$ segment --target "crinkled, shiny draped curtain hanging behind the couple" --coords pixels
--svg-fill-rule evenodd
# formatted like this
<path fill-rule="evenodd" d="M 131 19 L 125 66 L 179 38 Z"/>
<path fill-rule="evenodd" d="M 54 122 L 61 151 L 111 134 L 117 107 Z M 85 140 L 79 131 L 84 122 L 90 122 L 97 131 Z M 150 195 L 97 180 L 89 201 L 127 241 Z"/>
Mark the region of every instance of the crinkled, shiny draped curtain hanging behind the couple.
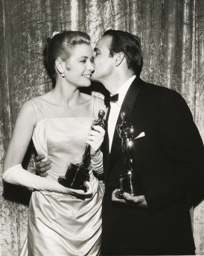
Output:
<path fill-rule="evenodd" d="M 178 91 L 204 139 L 204 1 L 0 0 L 0 4 L 1 171 L 22 103 L 52 88 L 42 57 L 47 37 L 65 29 L 87 32 L 93 46 L 107 29 L 138 35 L 144 55 L 142 79 Z M 34 171 L 32 145 L 23 164 Z M 204 254 L 203 194 L 198 188 L 191 197 L 197 255 Z M 5 184 L 3 192 L 1 183 L 2 256 L 17 255 L 25 240 L 29 198 L 28 190 L 14 185 Z"/>

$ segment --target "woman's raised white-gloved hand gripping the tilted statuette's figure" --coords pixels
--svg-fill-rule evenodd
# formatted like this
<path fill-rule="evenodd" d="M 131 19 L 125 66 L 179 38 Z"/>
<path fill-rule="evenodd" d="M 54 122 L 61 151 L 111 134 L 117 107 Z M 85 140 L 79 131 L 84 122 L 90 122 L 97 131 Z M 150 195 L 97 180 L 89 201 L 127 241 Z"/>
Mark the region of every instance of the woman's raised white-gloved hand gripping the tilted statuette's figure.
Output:
<path fill-rule="evenodd" d="M 105 135 L 105 130 L 99 125 L 94 126 L 94 129 L 96 131 L 90 130 L 88 132 L 88 137 L 85 140 L 85 142 L 91 146 L 91 156 L 93 156 L 98 151 Z"/>

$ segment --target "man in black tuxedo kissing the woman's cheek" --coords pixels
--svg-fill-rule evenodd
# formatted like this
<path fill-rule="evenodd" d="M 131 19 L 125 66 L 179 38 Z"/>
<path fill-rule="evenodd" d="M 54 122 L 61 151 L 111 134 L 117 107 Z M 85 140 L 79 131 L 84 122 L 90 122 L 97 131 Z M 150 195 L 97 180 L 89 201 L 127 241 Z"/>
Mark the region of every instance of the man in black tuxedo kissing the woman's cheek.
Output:
<path fill-rule="evenodd" d="M 102 145 L 102 255 L 193 255 L 188 195 L 203 181 L 204 148 L 191 112 L 177 92 L 139 78 L 142 50 L 135 35 L 108 30 L 94 53 L 93 80 L 119 94 L 110 102 Z M 124 199 L 115 196 L 126 170 L 116 129 L 121 112 L 135 129 L 133 164 L 146 189 Z"/>

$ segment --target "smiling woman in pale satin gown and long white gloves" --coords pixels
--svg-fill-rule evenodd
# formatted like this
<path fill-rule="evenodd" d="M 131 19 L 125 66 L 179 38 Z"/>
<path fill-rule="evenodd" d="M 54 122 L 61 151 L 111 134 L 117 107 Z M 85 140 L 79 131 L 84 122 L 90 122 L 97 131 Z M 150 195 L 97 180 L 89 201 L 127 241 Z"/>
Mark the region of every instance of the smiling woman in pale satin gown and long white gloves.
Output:
<path fill-rule="evenodd" d="M 70 162 L 80 163 L 85 142 L 91 146 L 91 162 L 101 172 L 100 147 L 104 130 L 89 131 L 101 99 L 79 92 L 91 85 L 94 71 L 88 34 L 63 31 L 47 45 L 47 67 L 56 80 L 53 90 L 26 101 L 18 114 L 4 160 L 4 181 L 33 189 L 28 213 L 27 245 L 21 255 L 99 255 L 102 190 L 89 166 L 89 189 L 60 185 Z M 99 105 L 99 108 L 98 108 Z M 87 136 L 88 134 L 88 136 Z M 51 160 L 46 177 L 21 166 L 30 139 L 38 154 Z M 28 250 L 28 252 L 26 252 Z"/>

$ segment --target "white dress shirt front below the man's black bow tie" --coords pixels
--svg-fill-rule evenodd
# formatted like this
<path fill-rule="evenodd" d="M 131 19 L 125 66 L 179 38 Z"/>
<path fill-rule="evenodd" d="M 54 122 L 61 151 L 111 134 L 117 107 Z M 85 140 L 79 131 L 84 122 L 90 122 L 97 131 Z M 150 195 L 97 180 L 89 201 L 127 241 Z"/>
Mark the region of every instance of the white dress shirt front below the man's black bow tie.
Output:
<path fill-rule="evenodd" d="M 118 93 L 118 101 L 117 102 L 110 102 L 111 109 L 110 109 L 110 114 L 108 117 L 108 138 L 109 138 L 109 152 L 111 152 L 111 146 L 113 142 L 113 135 L 114 131 L 116 129 L 116 123 L 118 120 L 118 115 L 120 114 L 120 108 L 122 106 L 122 102 L 124 101 L 125 95 L 132 84 L 133 80 L 136 78 L 136 76 L 132 76 L 128 81 L 126 81 L 116 92 Z M 113 96 L 113 95 L 111 95 Z M 121 120 L 122 122 L 122 120 Z"/>

